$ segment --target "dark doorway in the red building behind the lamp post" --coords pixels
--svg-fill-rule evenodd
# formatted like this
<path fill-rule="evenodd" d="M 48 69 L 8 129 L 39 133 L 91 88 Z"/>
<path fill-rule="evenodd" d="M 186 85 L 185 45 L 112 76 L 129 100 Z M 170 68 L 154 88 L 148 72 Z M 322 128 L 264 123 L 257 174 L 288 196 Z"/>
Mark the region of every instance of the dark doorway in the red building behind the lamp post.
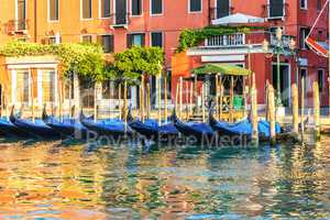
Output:
<path fill-rule="evenodd" d="M 290 76 L 289 76 L 289 65 L 282 64 L 279 67 L 279 84 L 280 84 L 280 98 L 282 103 L 285 107 L 290 105 Z M 277 90 L 277 65 L 273 64 L 273 87 Z M 276 91 L 277 92 L 277 91 Z"/>

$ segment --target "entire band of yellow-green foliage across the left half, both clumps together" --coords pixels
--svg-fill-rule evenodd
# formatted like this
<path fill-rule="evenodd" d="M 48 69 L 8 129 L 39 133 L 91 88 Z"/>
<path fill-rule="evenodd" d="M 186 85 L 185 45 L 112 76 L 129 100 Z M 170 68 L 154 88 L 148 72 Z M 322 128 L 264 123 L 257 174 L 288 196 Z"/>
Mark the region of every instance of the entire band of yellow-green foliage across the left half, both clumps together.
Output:
<path fill-rule="evenodd" d="M 157 75 L 163 67 L 164 52 L 160 47 L 134 46 L 114 54 L 114 62 L 106 64 L 101 46 L 96 44 L 53 44 L 10 42 L 0 47 L 4 56 L 54 55 L 66 77 L 77 73 L 84 80 L 128 80 L 134 84 L 142 74 Z"/>

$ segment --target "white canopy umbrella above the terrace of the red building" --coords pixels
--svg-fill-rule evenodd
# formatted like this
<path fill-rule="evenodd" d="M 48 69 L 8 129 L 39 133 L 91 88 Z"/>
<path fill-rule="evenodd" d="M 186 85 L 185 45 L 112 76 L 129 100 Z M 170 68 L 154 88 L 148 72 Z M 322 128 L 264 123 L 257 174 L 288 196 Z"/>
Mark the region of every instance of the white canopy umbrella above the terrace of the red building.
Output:
<path fill-rule="evenodd" d="M 212 20 L 213 25 L 229 25 L 229 24 L 246 24 L 246 23 L 263 23 L 265 19 L 252 16 L 243 13 L 235 13 L 221 19 Z"/>

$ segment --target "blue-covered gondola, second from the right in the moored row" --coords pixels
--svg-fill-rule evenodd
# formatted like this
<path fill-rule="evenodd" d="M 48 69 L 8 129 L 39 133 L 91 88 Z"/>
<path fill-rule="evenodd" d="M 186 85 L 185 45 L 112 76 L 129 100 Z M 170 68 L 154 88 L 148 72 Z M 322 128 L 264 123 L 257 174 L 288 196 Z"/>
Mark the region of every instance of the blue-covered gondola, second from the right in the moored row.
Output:
<path fill-rule="evenodd" d="M 199 122 L 184 122 L 176 116 L 176 111 L 173 111 L 170 120 L 175 128 L 187 138 L 187 142 L 191 144 L 204 144 L 216 141 L 216 135 L 211 127 L 206 123 Z"/>

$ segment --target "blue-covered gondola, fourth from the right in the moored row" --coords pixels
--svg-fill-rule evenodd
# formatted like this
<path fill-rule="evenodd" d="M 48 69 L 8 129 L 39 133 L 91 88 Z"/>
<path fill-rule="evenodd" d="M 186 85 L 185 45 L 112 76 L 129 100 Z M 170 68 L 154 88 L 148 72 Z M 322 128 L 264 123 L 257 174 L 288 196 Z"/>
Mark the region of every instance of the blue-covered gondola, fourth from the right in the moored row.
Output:
<path fill-rule="evenodd" d="M 119 138 L 124 135 L 131 136 L 133 133 L 130 127 L 124 124 L 124 122 L 121 120 L 111 119 L 111 120 L 95 122 L 92 119 L 88 119 L 84 114 L 82 110 L 80 111 L 79 119 L 80 119 L 80 123 L 84 127 L 86 127 L 90 131 L 94 131 L 99 136 L 101 135 L 113 136 L 113 138 Z"/>

